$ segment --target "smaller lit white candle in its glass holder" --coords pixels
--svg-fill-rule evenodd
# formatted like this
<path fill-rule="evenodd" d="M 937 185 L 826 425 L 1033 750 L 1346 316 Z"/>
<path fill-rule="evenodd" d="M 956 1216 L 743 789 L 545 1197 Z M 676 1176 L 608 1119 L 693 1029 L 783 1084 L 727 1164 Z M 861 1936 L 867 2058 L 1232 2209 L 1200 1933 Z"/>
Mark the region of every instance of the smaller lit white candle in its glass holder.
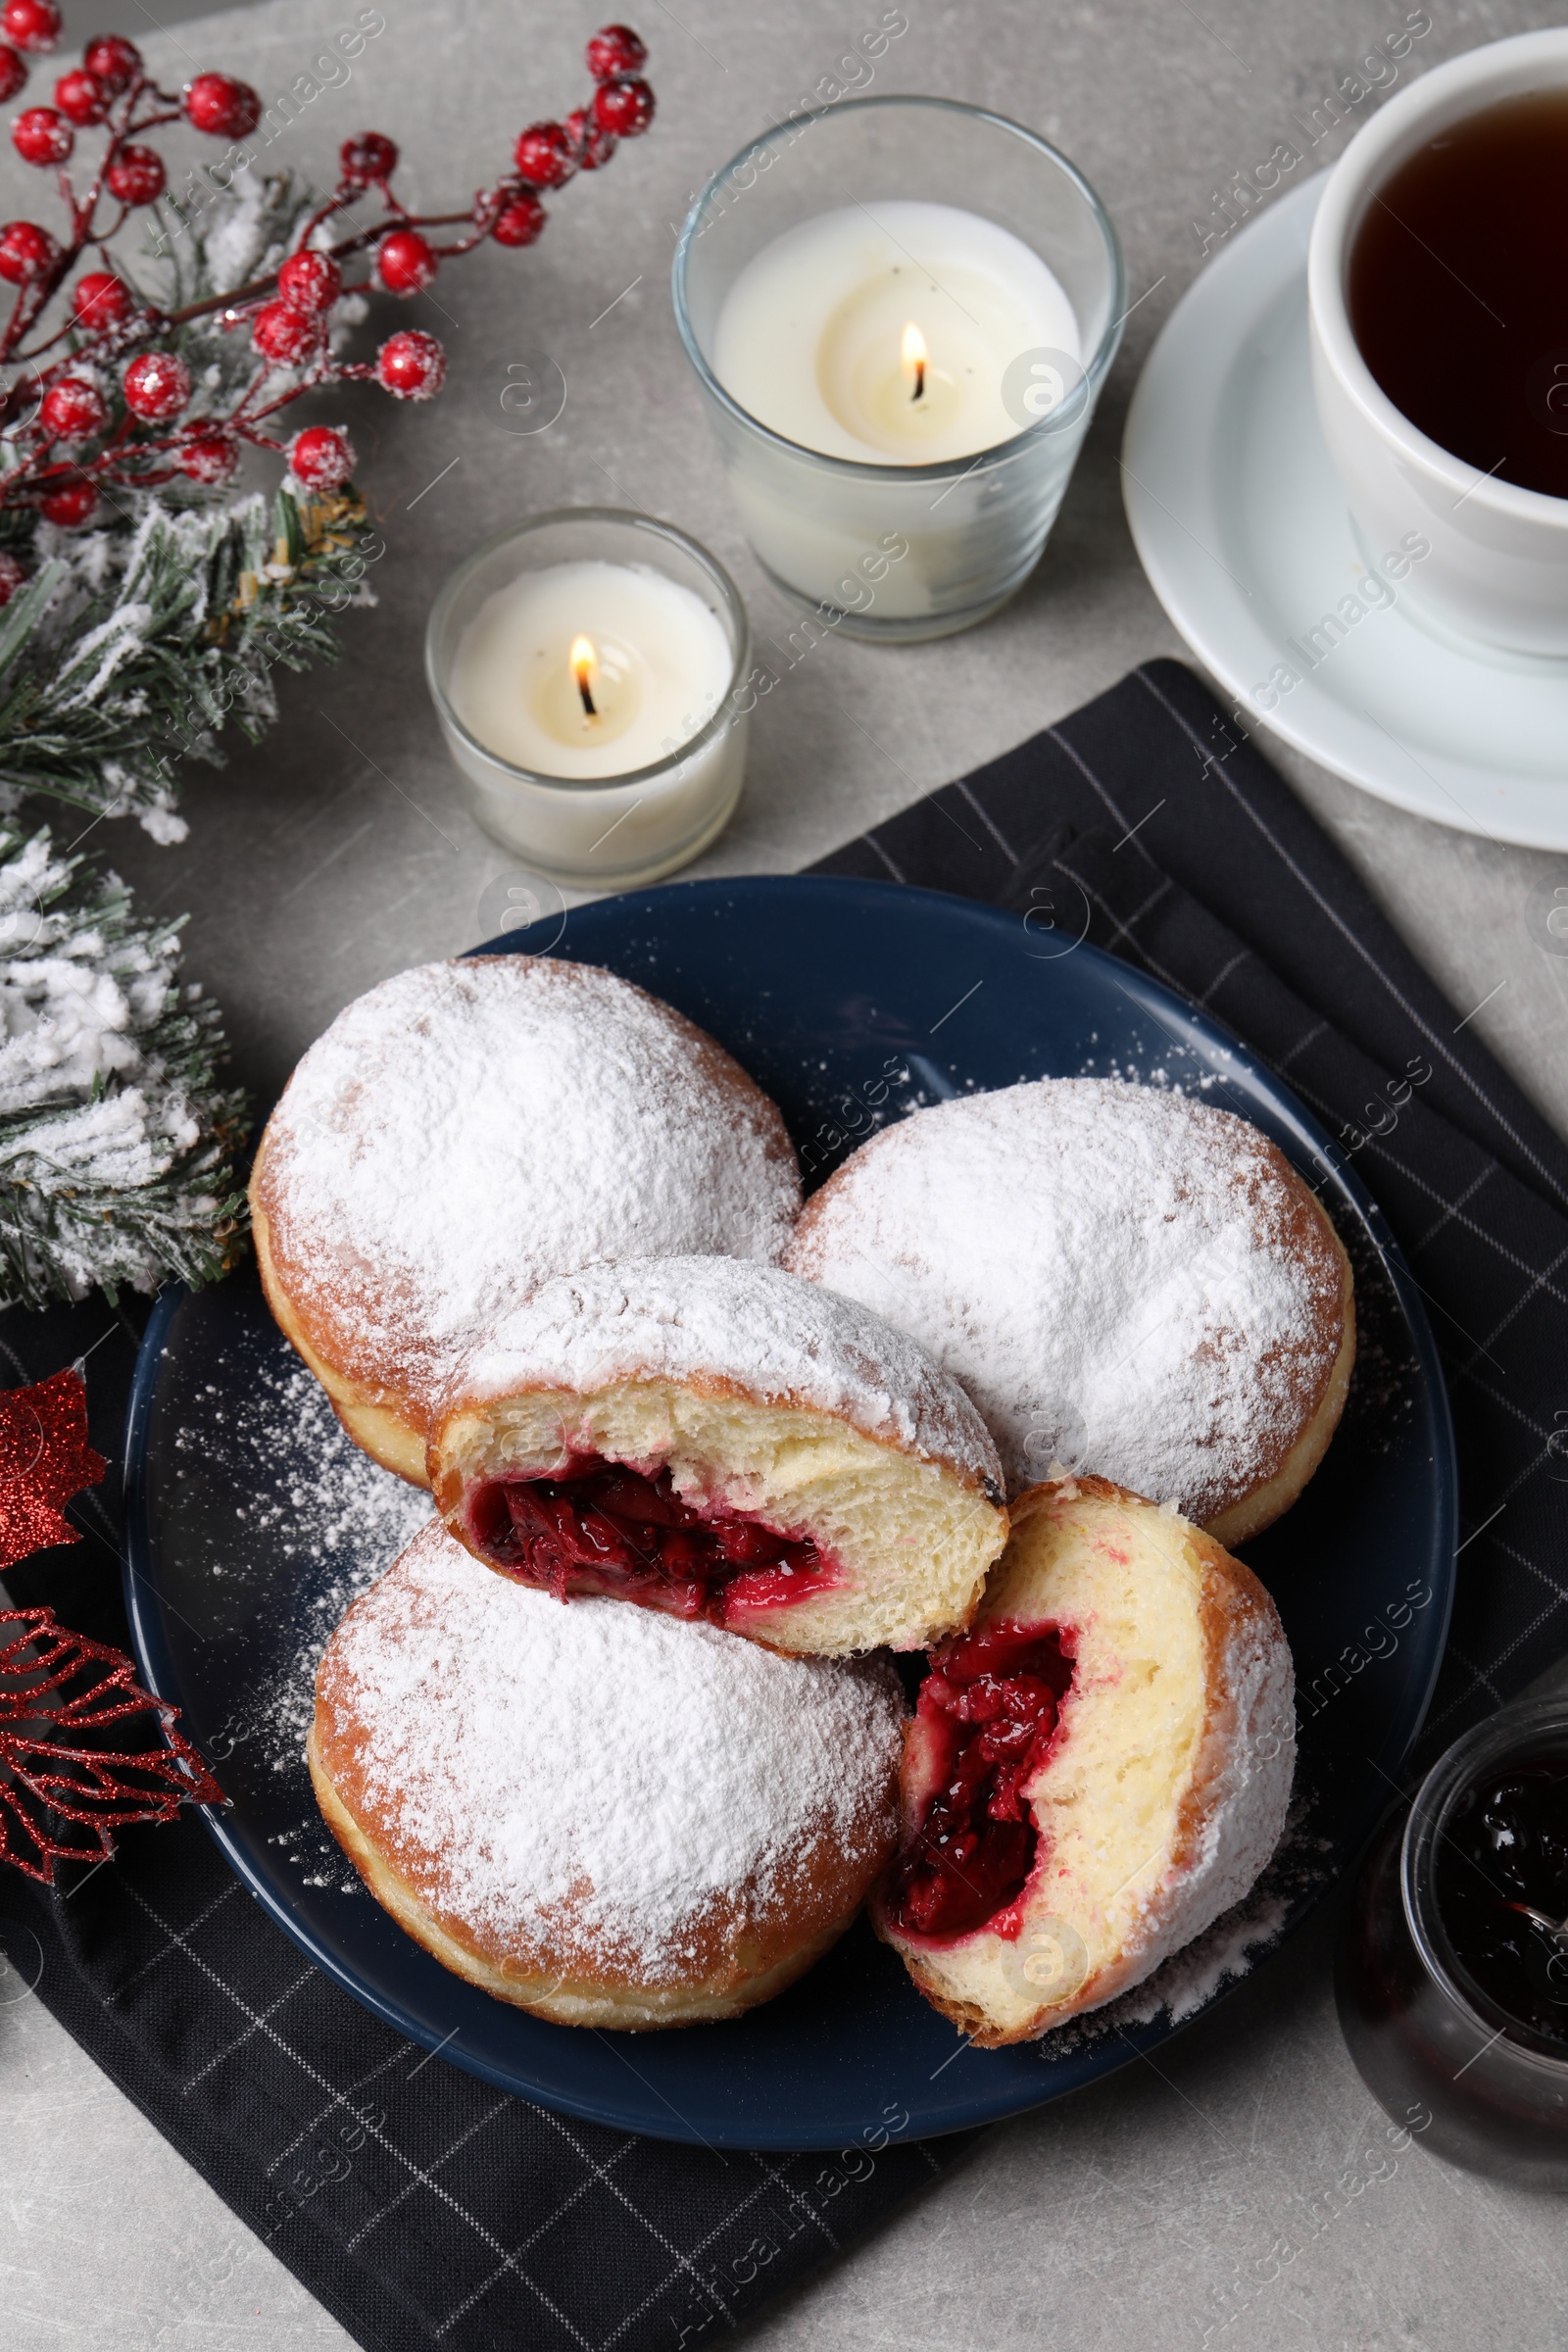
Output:
<path fill-rule="evenodd" d="M 745 781 L 745 607 L 668 522 L 559 508 L 442 586 L 425 677 L 470 814 L 571 889 L 686 866 Z"/>

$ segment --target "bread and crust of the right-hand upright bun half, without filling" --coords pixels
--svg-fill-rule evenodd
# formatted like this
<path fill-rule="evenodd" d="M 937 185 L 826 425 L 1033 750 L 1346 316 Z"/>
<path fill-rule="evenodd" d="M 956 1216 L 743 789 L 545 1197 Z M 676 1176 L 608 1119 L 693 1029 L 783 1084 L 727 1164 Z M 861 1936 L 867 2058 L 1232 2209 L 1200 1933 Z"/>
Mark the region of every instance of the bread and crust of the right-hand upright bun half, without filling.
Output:
<path fill-rule="evenodd" d="M 917 1985 L 983 2046 L 1114 1999 L 1237 1903 L 1284 1828 L 1295 1755 L 1262 1585 L 1105 1479 L 1018 1498 L 990 1621 L 1056 1623 L 1077 1644 L 1058 1743 L 1025 1790 L 1039 1849 L 1020 1931 L 936 1945 L 879 1910 Z"/>

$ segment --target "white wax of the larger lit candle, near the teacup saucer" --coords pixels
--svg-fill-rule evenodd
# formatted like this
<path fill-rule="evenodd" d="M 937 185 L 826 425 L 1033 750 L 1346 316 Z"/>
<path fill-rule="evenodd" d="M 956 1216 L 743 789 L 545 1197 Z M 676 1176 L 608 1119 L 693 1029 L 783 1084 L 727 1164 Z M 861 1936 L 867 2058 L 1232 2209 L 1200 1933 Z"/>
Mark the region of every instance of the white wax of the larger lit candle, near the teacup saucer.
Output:
<path fill-rule="evenodd" d="M 752 254 L 712 374 L 752 421 L 748 440 L 722 416 L 719 437 L 757 555 L 863 635 L 966 626 L 1018 586 L 1091 412 L 1056 270 L 999 221 L 922 200 L 820 212 Z M 1013 473 L 1009 445 L 1053 414 Z"/>

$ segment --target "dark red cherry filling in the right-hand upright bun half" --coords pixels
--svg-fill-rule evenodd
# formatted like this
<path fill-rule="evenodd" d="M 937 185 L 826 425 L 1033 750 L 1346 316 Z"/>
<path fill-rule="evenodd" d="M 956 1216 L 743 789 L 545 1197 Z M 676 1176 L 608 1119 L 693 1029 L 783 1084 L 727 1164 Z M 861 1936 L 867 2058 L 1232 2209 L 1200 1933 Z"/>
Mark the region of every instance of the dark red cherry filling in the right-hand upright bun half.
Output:
<path fill-rule="evenodd" d="M 1056 1740 L 1072 1639 L 999 1623 L 931 1653 L 905 1764 L 919 1809 L 889 1889 L 905 1933 L 969 1936 L 1023 1893 L 1039 1842 L 1023 1790 Z"/>

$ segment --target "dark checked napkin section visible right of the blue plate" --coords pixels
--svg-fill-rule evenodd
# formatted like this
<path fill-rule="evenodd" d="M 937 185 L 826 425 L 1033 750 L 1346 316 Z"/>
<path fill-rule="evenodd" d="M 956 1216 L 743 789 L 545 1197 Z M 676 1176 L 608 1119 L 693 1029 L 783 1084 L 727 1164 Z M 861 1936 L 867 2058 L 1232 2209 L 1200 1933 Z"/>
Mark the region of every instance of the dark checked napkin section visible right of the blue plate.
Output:
<path fill-rule="evenodd" d="M 1086 936 L 1279 1070 L 1387 1214 L 1448 1376 L 1460 1583 L 1420 1752 L 1568 1651 L 1568 1145 L 1192 670 L 1133 670 L 816 873 Z"/>

